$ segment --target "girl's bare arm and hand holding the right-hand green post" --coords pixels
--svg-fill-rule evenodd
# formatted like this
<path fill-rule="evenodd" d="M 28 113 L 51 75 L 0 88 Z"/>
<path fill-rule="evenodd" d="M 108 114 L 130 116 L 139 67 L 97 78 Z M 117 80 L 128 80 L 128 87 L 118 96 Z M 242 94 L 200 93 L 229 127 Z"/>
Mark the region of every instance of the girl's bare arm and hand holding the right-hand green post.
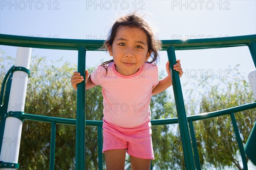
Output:
<path fill-rule="evenodd" d="M 181 75 L 183 74 L 183 71 L 182 71 L 182 68 L 180 65 L 180 60 L 177 60 L 176 62 L 177 63 L 174 65 L 173 69 L 176 70 L 177 72 L 179 72 L 179 75 L 181 77 Z M 169 64 L 170 64 L 169 61 L 167 61 L 166 71 L 167 71 L 168 76 L 166 78 L 160 80 L 159 83 L 157 84 L 157 86 L 152 87 L 152 95 L 157 95 L 158 93 L 163 92 L 169 86 L 172 86 L 172 76 L 171 76 Z"/>

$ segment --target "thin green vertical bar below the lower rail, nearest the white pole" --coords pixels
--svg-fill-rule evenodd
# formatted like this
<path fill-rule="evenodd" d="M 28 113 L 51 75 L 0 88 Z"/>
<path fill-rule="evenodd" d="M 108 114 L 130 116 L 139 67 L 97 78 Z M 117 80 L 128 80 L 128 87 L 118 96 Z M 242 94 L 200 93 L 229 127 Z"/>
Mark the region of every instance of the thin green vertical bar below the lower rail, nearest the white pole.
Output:
<path fill-rule="evenodd" d="M 56 135 L 56 124 L 52 122 L 51 127 L 51 147 L 50 147 L 50 170 L 54 170 L 55 163 L 55 135 Z"/>

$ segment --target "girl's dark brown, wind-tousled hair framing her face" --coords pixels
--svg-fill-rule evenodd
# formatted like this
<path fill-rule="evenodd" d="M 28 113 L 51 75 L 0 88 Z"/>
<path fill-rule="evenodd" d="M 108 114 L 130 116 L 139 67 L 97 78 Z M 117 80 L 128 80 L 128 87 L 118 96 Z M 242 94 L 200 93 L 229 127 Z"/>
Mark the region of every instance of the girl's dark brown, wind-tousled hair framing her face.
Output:
<path fill-rule="evenodd" d="M 149 61 L 148 63 L 153 63 L 154 61 L 158 60 L 159 55 L 158 55 L 157 51 L 161 49 L 161 45 L 162 45 L 161 41 L 157 40 L 151 27 L 143 19 L 143 16 L 141 16 L 140 14 L 138 14 L 136 12 L 132 12 L 131 14 L 122 16 L 115 21 L 115 23 L 113 24 L 113 26 L 108 34 L 108 39 L 105 40 L 105 42 L 103 44 L 104 49 L 108 49 L 109 47 L 112 46 L 119 26 L 128 26 L 131 28 L 135 27 L 135 28 L 142 29 L 145 32 L 145 34 L 147 35 L 148 52 L 150 53 L 150 56 L 152 58 L 152 60 Z M 105 67 L 106 71 L 108 71 L 106 64 L 111 63 L 112 61 L 113 60 L 105 61 L 105 62 L 101 63 L 101 65 Z"/>

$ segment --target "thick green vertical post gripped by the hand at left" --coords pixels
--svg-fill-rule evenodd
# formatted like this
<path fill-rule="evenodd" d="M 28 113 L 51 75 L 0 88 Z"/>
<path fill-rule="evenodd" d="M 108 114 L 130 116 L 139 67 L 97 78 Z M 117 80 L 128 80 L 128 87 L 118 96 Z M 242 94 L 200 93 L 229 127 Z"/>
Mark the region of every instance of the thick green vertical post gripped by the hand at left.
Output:
<path fill-rule="evenodd" d="M 85 78 L 85 48 L 78 49 L 78 72 Z M 85 170 L 85 81 L 77 85 L 76 170 Z"/>

